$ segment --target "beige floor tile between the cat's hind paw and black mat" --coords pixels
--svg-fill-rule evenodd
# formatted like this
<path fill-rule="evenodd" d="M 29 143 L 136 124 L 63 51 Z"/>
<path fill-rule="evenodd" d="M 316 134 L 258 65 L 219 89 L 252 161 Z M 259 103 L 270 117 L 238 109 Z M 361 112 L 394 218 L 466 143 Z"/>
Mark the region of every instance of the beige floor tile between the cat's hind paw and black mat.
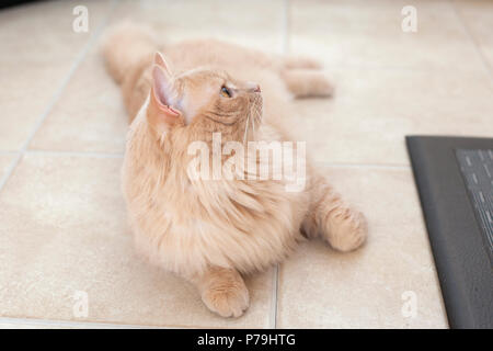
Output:
<path fill-rule="evenodd" d="M 344 68 L 330 76 L 335 97 L 298 100 L 288 117 L 317 161 L 408 165 L 408 134 L 493 135 L 492 82 L 482 72 Z"/>

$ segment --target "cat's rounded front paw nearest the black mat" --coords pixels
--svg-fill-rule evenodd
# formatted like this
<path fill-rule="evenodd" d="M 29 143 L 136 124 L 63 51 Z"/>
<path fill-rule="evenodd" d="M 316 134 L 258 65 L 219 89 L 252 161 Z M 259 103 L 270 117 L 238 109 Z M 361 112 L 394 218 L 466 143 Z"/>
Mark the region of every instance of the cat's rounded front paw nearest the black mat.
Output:
<path fill-rule="evenodd" d="M 326 239 L 339 251 L 353 251 L 360 247 L 368 235 L 365 216 L 353 208 L 337 208 L 328 217 Z"/>

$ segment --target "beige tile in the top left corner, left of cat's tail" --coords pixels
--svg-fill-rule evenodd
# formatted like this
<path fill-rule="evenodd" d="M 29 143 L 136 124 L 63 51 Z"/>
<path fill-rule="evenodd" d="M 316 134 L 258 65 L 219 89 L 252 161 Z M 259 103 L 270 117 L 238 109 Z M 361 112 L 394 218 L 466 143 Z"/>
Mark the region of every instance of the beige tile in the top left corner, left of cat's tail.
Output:
<path fill-rule="evenodd" d="M 73 7 L 87 5 L 89 32 L 72 30 Z M 49 106 L 108 1 L 56 1 L 0 13 L 0 150 L 16 150 Z"/>

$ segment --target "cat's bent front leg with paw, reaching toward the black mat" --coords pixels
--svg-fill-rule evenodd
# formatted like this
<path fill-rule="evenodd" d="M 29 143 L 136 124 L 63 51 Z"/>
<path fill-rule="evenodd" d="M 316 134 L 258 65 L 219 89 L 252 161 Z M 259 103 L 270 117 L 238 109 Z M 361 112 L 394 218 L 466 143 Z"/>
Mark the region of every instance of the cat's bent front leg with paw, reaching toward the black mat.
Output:
<path fill-rule="evenodd" d="M 360 247 L 367 237 L 364 215 L 345 203 L 323 178 L 311 185 L 312 203 L 302 223 L 308 237 L 321 236 L 339 251 Z"/>

